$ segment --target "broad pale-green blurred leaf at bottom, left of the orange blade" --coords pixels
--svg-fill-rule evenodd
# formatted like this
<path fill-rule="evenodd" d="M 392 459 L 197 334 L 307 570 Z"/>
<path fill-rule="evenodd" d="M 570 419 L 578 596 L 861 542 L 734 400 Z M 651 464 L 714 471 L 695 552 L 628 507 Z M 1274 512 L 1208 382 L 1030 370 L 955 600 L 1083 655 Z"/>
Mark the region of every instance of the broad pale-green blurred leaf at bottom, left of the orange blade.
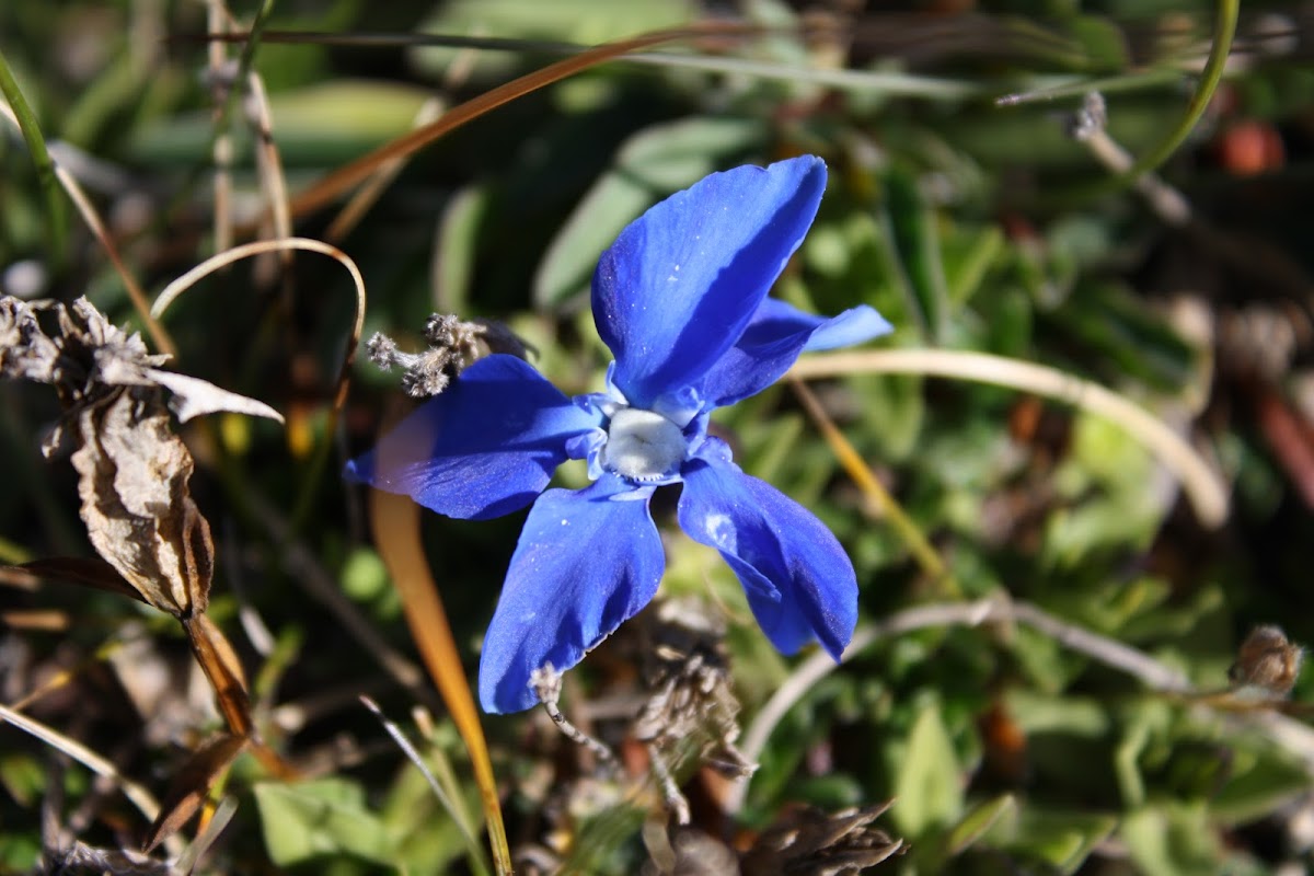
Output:
<path fill-rule="evenodd" d="M 255 785 L 269 859 L 290 867 L 314 858 L 351 855 L 380 864 L 397 859 L 397 843 L 365 808 L 360 785 L 344 779 Z"/>

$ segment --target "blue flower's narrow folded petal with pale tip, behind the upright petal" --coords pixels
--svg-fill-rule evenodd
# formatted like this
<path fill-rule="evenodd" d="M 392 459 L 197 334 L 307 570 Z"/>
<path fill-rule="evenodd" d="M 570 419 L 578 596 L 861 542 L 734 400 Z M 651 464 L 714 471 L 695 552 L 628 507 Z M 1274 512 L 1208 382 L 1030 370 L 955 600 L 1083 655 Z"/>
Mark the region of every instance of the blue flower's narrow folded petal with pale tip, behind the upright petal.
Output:
<path fill-rule="evenodd" d="M 861 344 L 890 331 L 886 318 L 866 305 L 827 319 L 767 298 L 738 343 L 708 372 L 703 393 L 712 407 L 733 405 L 779 380 L 804 351 Z"/>

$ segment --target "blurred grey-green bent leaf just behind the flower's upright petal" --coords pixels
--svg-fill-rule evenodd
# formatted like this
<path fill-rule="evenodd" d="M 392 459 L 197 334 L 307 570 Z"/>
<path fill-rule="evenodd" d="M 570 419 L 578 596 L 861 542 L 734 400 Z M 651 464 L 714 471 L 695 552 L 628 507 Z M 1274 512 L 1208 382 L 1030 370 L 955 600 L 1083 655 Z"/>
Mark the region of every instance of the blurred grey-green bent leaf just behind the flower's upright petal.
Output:
<path fill-rule="evenodd" d="M 586 292 L 598 256 L 622 229 L 763 135 L 759 120 L 694 117 L 631 137 L 553 239 L 533 278 L 533 302 L 551 309 Z"/>

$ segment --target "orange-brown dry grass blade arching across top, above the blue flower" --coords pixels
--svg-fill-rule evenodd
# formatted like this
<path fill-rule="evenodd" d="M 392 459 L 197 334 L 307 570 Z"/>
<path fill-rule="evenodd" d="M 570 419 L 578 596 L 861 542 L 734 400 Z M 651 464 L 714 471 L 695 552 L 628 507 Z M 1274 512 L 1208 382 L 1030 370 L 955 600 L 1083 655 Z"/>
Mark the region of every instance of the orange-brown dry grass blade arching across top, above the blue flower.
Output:
<path fill-rule="evenodd" d="M 318 210 L 347 189 L 364 181 L 380 167 L 385 167 L 390 162 L 406 158 L 407 155 L 424 148 L 438 138 L 444 134 L 449 134 L 461 125 L 478 118 L 484 113 L 494 110 L 498 106 L 509 104 L 518 97 L 523 97 L 530 92 L 537 91 L 539 88 L 566 79 L 568 76 L 583 72 L 590 67 L 597 67 L 600 63 L 640 49 L 646 49 L 664 42 L 673 42 L 675 39 L 745 35 L 758 33 L 758 30 L 759 29 L 757 26 L 749 25 L 706 24 L 691 28 L 677 28 L 673 30 L 654 30 L 653 33 L 641 34 L 629 39 L 622 39 L 619 42 L 608 42 L 595 49 L 581 51 L 578 55 L 572 55 L 570 58 L 548 64 L 543 70 L 536 70 L 532 74 L 514 79 L 505 85 L 498 85 L 497 88 L 487 91 L 473 100 L 468 100 L 459 106 L 453 106 L 438 121 L 415 129 L 409 134 L 403 134 L 393 142 L 380 146 L 373 152 L 356 159 L 351 164 L 338 168 L 325 179 L 319 180 L 319 183 L 313 185 L 309 190 L 294 197 L 292 200 L 292 214 L 302 215 L 305 213 Z"/>

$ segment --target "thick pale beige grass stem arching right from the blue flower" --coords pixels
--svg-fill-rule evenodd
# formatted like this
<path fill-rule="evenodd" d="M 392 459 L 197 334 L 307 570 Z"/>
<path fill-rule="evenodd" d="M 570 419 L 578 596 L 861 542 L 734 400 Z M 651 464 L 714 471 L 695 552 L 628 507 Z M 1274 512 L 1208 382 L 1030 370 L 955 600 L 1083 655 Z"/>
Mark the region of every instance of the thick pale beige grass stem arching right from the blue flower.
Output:
<path fill-rule="evenodd" d="M 1099 383 L 1016 359 L 950 349 L 878 349 L 805 356 L 790 369 L 798 380 L 844 374 L 922 374 L 1008 386 L 1072 405 L 1121 426 L 1177 477 L 1200 523 L 1227 519 L 1227 487 L 1209 464 L 1163 420 Z"/>

